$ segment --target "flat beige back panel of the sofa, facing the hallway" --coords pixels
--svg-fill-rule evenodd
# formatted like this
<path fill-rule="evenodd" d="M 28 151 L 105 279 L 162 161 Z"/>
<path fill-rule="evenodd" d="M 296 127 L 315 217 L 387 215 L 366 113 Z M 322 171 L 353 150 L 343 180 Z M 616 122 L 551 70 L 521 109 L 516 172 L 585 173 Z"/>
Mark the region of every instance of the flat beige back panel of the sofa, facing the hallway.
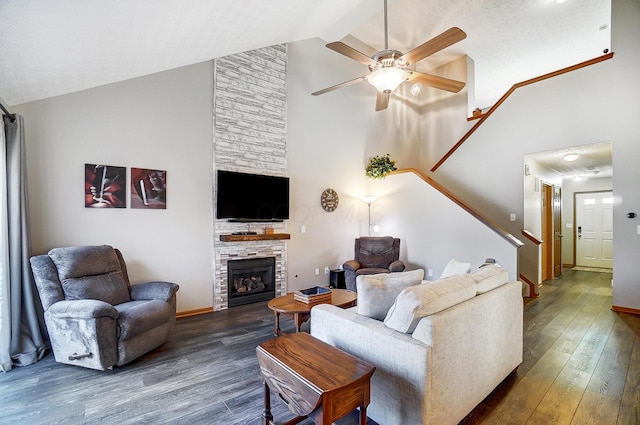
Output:
<path fill-rule="evenodd" d="M 522 284 L 424 317 L 413 338 L 433 347 L 431 420 L 457 423 L 522 363 Z"/>

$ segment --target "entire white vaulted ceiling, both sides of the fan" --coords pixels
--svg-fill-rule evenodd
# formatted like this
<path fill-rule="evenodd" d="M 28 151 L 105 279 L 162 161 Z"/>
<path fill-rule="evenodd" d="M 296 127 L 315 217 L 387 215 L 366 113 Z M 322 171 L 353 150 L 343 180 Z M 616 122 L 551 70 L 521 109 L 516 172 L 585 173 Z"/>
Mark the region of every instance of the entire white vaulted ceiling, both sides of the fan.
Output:
<path fill-rule="evenodd" d="M 383 0 L 2 0 L 0 98 L 9 106 L 312 37 L 384 48 Z M 513 84 L 610 49 L 610 0 L 389 0 L 389 48 L 452 26 L 467 38 L 475 106 Z M 356 77 L 356 76 L 354 76 Z"/>

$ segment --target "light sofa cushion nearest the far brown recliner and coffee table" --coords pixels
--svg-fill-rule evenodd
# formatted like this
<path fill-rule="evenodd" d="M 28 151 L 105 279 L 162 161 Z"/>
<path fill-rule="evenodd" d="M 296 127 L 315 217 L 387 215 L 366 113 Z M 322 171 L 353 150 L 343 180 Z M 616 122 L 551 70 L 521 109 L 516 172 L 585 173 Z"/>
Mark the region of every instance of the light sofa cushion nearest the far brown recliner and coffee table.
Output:
<path fill-rule="evenodd" d="M 358 276 L 356 312 L 372 319 L 384 320 L 398 294 L 409 286 L 420 284 L 423 277 L 423 269 Z"/>

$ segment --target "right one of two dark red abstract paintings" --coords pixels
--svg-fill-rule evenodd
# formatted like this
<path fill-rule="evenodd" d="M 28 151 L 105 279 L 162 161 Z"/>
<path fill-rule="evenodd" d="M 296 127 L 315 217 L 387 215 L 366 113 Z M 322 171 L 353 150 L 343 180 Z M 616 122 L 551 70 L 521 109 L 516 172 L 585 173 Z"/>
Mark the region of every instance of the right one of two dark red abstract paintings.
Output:
<path fill-rule="evenodd" d="M 131 208 L 167 208 L 167 172 L 131 168 Z"/>

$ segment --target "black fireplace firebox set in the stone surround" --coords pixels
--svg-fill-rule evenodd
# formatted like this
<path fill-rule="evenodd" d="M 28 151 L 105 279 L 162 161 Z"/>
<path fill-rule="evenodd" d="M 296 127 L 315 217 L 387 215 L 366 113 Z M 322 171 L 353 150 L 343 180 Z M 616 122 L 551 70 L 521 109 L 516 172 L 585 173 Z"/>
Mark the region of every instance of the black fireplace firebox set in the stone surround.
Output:
<path fill-rule="evenodd" d="M 275 257 L 227 262 L 229 307 L 267 301 L 275 297 Z"/>

